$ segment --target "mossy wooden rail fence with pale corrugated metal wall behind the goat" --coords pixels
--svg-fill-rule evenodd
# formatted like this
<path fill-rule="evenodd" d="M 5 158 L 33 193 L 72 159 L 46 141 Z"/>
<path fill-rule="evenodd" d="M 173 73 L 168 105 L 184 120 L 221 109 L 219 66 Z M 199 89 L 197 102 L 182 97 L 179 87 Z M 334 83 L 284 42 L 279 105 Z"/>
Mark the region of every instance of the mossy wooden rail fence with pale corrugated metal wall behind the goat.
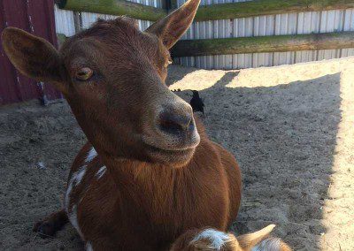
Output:
<path fill-rule="evenodd" d="M 73 22 L 80 19 L 73 27 L 85 28 L 97 17 L 125 14 L 140 19 L 143 30 L 183 1 L 59 0 L 56 17 L 71 11 Z M 240 1 L 202 0 L 194 24 L 172 49 L 174 62 L 237 69 L 354 55 L 354 0 Z"/>

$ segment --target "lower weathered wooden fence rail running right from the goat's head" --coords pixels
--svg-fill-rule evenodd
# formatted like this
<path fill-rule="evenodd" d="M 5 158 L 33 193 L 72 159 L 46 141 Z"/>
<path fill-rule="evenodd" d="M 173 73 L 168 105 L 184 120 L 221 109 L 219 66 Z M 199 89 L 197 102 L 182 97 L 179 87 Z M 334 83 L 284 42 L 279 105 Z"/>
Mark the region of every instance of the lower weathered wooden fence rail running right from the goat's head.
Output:
<path fill-rule="evenodd" d="M 182 40 L 173 46 L 173 57 L 286 52 L 354 47 L 354 32 L 289 34 L 239 38 Z"/>

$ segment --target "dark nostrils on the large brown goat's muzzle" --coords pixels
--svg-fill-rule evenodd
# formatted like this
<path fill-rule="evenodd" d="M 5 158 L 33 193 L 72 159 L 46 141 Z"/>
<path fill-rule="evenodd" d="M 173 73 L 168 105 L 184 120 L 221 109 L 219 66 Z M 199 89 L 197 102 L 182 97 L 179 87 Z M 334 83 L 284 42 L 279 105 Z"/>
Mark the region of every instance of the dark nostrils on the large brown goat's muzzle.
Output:
<path fill-rule="evenodd" d="M 192 125 L 192 115 L 191 114 L 177 114 L 172 112 L 163 112 L 160 115 L 160 127 L 166 133 L 181 133 L 187 132 Z"/>

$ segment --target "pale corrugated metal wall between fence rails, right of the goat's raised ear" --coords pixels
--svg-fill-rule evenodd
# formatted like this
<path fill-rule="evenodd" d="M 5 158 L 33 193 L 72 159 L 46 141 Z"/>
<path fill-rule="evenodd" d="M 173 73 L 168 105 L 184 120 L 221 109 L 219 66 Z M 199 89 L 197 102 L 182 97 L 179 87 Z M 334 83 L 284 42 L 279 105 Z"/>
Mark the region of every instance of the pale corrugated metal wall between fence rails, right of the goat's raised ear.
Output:
<path fill-rule="evenodd" d="M 178 0 L 178 6 L 185 1 Z M 202 0 L 201 4 L 245 1 Z M 312 34 L 354 30 L 354 10 L 308 11 L 242 19 L 194 22 L 182 39 L 250 37 L 280 34 Z M 201 57 L 181 57 L 175 62 L 204 69 L 242 69 L 290 65 L 309 61 L 354 56 L 354 49 L 324 49 L 272 53 L 249 53 Z"/>

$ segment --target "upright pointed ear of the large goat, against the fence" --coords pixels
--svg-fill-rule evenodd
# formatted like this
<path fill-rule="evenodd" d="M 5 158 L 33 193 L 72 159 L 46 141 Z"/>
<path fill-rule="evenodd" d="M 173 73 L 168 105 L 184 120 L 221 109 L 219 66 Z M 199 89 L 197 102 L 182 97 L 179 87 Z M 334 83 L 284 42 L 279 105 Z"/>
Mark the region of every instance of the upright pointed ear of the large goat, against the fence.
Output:
<path fill-rule="evenodd" d="M 146 31 L 156 34 L 167 49 L 173 47 L 192 23 L 200 0 L 189 0 L 164 19 L 159 19 Z"/>

